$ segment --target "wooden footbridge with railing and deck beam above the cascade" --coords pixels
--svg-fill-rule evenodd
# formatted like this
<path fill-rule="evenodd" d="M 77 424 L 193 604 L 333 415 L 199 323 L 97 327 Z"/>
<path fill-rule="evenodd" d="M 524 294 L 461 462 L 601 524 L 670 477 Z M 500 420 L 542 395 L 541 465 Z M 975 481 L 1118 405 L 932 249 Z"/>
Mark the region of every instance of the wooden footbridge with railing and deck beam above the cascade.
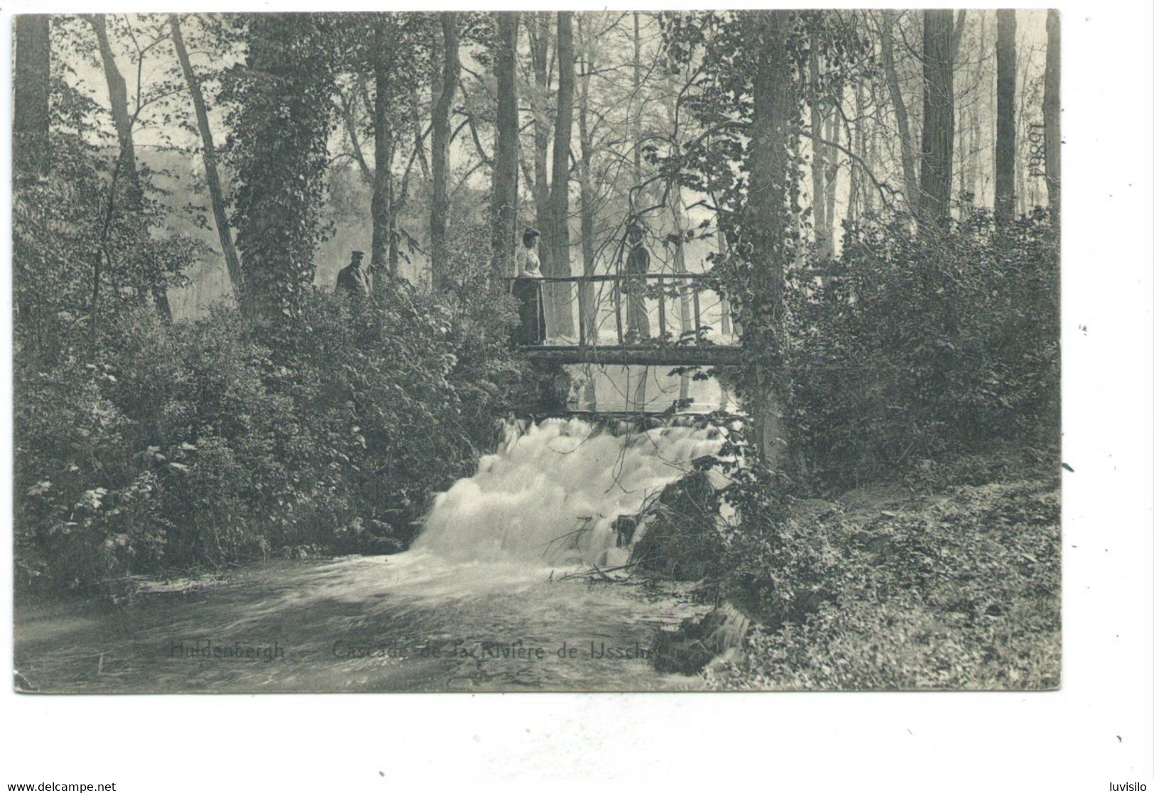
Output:
<path fill-rule="evenodd" d="M 530 358 L 560 364 L 741 365 L 743 351 L 729 307 L 706 285 L 707 275 L 537 279 L 545 301 L 545 342 L 522 344 L 520 349 Z M 567 332 L 570 328 L 572 332 Z"/>

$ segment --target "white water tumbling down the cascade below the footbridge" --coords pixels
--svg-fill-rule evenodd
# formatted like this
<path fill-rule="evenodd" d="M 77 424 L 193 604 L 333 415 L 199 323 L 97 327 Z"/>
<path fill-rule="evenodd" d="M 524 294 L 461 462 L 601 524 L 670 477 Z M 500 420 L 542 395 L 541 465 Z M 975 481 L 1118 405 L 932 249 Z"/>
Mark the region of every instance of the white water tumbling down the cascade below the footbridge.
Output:
<path fill-rule="evenodd" d="M 613 522 L 718 451 L 715 429 L 613 434 L 580 419 L 505 426 L 497 454 L 437 496 L 413 545 L 455 561 L 621 564 Z"/>

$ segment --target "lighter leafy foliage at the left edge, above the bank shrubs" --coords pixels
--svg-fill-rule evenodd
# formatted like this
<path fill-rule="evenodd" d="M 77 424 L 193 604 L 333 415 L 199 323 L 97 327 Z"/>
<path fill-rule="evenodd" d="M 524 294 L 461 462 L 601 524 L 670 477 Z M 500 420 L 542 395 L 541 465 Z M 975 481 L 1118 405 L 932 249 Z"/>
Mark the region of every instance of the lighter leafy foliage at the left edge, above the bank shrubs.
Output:
<path fill-rule="evenodd" d="M 14 343 L 48 360 L 96 344 L 103 324 L 180 284 L 203 252 L 166 229 L 171 208 L 148 169 L 128 200 L 93 103 L 53 76 L 47 171 L 13 192 Z"/>

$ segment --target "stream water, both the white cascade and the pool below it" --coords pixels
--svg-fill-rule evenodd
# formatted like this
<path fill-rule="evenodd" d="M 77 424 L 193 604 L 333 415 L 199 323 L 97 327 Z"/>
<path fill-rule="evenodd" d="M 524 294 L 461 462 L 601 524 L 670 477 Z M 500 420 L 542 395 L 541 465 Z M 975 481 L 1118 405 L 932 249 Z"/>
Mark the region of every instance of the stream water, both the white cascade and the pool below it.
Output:
<path fill-rule="evenodd" d="M 613 521 L 713 454 L 715 431 L 510 425 L 394 556 L 278 561 L 213 586 L 16 609 L 16 668 L 46 691 L 646 690 L 704 606 L 567 574 L 623 563 Z"/>

